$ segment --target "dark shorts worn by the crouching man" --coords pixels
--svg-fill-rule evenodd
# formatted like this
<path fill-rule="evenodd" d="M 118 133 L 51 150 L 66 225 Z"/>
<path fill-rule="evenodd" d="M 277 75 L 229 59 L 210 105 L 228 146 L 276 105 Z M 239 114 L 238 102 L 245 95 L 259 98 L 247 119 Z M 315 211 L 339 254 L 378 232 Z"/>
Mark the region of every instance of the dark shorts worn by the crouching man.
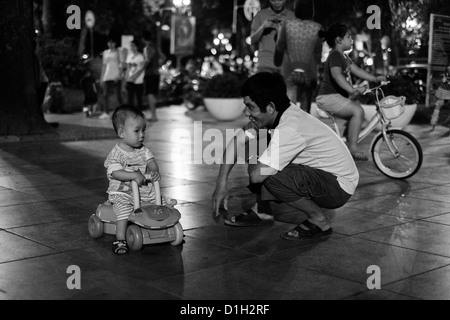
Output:
<path fill-rule="evenodd" d="M 249 187 L 258 193 L 255 186 Z M 283 171 L 268 178 L 261 188 L 262 201 L 290 203 L 306 198 L 324 209 L 342 207 L 351 198 L 336 176 L 323 170 L 290 164 Z"/>

